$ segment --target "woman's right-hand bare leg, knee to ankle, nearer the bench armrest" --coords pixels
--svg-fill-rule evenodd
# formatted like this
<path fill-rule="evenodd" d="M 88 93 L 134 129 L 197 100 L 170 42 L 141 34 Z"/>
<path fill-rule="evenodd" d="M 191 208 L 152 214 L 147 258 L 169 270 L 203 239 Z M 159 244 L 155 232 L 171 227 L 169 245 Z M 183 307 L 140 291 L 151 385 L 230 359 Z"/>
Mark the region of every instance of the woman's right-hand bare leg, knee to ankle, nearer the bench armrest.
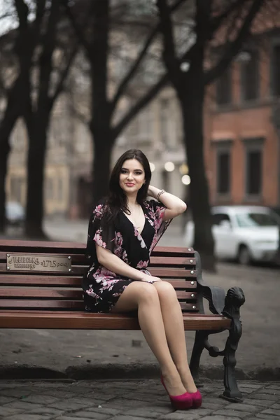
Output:
<path fill-rule="evenodd" d="M 176 291 L 167 281 L 156 281 L 152 286 L 158 291 L 167 343 L 176 368 L 186 390 L 195 392 L 197 388 L 188 366 L 183 316 Z"/>

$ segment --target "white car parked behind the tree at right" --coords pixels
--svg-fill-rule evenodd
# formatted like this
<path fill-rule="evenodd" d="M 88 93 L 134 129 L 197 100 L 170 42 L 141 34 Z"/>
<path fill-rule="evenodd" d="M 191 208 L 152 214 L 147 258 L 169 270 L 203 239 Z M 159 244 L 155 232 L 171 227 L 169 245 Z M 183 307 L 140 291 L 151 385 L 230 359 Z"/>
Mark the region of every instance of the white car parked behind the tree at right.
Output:
<path fill-rule="evenodd" d="M 270 262 L 279 250 L 280 217 L 269 207 L 212 207 L 212 233 L 217 258 Z M 185 232 L 186 246 L 193 246 L 194 223 L 189 221 Z"/>

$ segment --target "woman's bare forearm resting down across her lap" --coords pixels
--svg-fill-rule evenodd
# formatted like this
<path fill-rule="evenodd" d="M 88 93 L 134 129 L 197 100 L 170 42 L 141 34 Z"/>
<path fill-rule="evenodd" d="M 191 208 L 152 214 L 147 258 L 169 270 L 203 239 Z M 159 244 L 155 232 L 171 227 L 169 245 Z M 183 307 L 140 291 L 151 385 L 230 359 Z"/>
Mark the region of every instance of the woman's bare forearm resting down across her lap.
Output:
<path fill-rule="evenodd" d="M 132 280 L 156 281 L 156 279 L 158 279 L 158 277 L 149 276 L 148 274 L 139 271 L 139 269 L 130 267 L 130 265 L 128 265 L 125 261 L 121 260 L 117 257 L 117 255 L 109 251 L 109 249 L 102 248 L 102 246 L 97 244 L 95 244 L 95 247 L 99 264 L 103 265 L 111 272 L 128 277 Z"/>

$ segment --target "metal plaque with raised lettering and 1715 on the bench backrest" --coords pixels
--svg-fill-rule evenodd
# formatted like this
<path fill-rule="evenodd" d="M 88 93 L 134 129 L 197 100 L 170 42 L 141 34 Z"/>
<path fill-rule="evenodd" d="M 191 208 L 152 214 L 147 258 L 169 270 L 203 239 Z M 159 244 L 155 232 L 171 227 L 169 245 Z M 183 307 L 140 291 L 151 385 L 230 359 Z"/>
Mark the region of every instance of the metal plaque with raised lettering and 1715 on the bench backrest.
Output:
<path fill-rule="evenodd" d="M 7 254 L 8 271 L 71 272 L 71 257 L 42 254 Z"/>

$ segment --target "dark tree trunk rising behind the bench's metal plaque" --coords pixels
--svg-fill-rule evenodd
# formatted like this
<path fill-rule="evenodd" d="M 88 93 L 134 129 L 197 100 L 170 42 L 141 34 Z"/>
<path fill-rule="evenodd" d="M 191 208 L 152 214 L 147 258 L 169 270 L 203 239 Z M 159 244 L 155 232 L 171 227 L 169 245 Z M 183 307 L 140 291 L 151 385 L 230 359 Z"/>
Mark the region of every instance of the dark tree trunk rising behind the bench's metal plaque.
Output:
<path fill-rule="evenodd" d="M 47 239 L 43 232 L 43 184 L 48 116 L 35 115 L 27 125 L 29 149 L 27 160 L 27 217 L 25 234 L 32 239 Z"/>

